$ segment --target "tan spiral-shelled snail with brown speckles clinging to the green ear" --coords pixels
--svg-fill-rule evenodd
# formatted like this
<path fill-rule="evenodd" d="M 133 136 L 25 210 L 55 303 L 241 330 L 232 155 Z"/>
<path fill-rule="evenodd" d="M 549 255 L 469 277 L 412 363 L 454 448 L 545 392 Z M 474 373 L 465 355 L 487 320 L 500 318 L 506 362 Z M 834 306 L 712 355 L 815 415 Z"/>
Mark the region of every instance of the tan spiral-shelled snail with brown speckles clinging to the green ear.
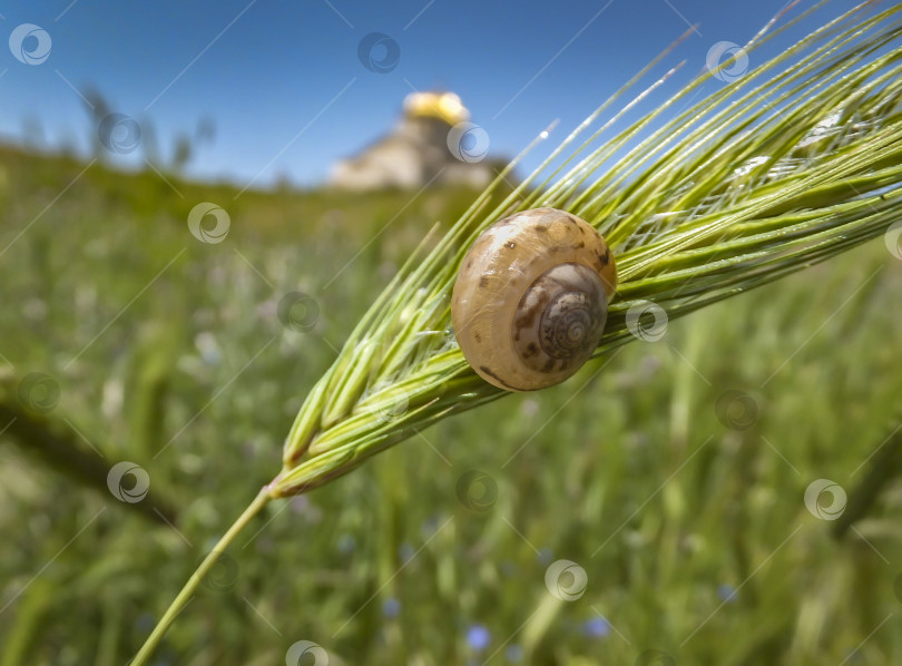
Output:
<path fill-rule="evenodd" d="M 558 384 L 589 360 L 617 270 L 605 239 L 555 208 L 488 227 L 463 257 L 451 323 L 467 362 L 509 391 Z"/>

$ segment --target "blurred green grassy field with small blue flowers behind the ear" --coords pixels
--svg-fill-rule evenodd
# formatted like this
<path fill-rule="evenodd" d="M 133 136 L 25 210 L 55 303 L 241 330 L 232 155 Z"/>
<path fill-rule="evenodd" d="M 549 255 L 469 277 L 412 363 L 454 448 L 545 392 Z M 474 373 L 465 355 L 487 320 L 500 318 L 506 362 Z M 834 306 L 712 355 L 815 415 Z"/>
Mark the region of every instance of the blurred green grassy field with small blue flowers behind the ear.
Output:
<path fill-rule="evenodd" d="M 0 422 L 0 666 L 126 664 L 360 315 L 473 197 L 85 166 L 0 150 L 0 405 L 46 373 L 36 423 L 79 433 L 51 469 Z M 224 242 L 190 235 L 200 202 Z M 312 330 L 280 321 L 291 292 Z M 901 302 L 875 241 L 274 502 L 154 663 L 283 664 L 298 640 L 333 666 L 902 663 Z M 175 527 L 70 473 L 91 447 L 141 466 Z M 839 520 L 806 508 L 817 479 Z M 562 559 L 587 578 L 570 601 L 546 585 Z"/>

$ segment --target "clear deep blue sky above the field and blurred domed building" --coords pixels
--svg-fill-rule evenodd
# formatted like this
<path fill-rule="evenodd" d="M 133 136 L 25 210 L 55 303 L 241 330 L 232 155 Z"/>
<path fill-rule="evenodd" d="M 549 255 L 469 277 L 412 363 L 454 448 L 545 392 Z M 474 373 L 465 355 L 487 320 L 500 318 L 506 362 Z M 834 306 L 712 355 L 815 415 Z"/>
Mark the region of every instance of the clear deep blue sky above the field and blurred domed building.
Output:
<path fill-rule="evenodd" d="M 33 23 L 49 36 L 40 65 L 0 53 L 0 140 L 41 128 L 48 147 L 87 151 L 94 131 L 80 95 L 99 90 L 117 112 L 146 127 L 164 158 L 178 133 L 215 121 L 212 145 L 188 166 L 196 178 L 266 186 L 280 177 L 311 186 L 330 164 L 378 138 L 414 89 L 458 92 L 491 141 L 512 156 L 552 120 L 566 133 L 677 39 L 697 30 L 656 70 L 680 60 L 674 85 L 705 67 L 718 41 L 744 43 L 784 0 L 604 0 L 513 2 L 402 0 L 65 0 L 0 4 L 0 31 Z M 801 2 L 790 16 L 810 7 Z M 813 28 L 852 7 L 836 1 Z M 371 71 L 361 40 L 398 45 L 390 71 Z M 803 30 L 791 32 L 801 36 Z M 7 38 L 4 38 L 6 41 Z M 35 38 L 37 40 L 37 38 Z M 37 41 L 26 45 L 35 48 Z M 378 47 L 382 48 L 382 47 Z M 376 60 L 384 51 L 374 52 Z M 754 66 L 754 60 L 752 62 Z M 654 78 L 647 80 L 650 84 Z M 724 85 L 712 80 L 706 90 Z M 664 99 L 663 94 L 653 98 Z M 553 138 L 552 138 L 553 141 Z M 524 167 L 535 166 L 541 153 Z M 140 164 L 140 150 L 119 158 Z"/>

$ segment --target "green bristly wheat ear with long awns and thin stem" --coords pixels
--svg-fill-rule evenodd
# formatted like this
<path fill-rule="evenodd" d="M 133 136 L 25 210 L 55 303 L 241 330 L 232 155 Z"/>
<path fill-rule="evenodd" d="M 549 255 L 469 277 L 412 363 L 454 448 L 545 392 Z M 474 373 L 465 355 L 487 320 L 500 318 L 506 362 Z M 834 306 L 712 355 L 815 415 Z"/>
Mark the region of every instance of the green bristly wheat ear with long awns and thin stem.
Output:
<path fill-rule="evenodd" d="M 500 205 L 488 209 L 522 155 L 437 242 L 433 228 L 311 390 L 285 441 L 283 469 L 192 576 L 133 664 L 147 663 L 222 550 L 267 501 L 322 486 L 448 415 L 506 394 L 470 369 L 450 333 L 458 266 L 501 217 L 560 208 L 608 241 L 619 286 L 595 363 L 634 339 L 629 316 L 649 302 L 678 317 L 830 258 L 900 219 L 902 7 L 866 17 L 869 4 L 745 71 L 739 66 L 756 49 L 815 8 L 771 30 L 774 19 L 626 129 L 597 140 L 676 68 L 586 137 L 668 49 Z M 727 79 L 718 91 L 675 111 L 714 77 Z"/>

